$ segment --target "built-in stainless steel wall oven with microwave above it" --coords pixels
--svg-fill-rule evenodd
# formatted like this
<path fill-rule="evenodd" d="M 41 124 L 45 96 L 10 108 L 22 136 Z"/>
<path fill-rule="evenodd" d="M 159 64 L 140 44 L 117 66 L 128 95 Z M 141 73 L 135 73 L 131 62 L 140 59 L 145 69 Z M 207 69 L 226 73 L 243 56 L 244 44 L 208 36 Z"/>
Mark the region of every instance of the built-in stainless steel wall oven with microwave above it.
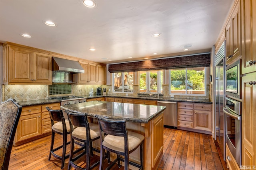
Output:
<path fill-rule="evenodd" d="M 225 135 L 226 143 L 230 152 L 241 165 L 241 143 L 242 143 L 242 103 L 241 103 L 241 60 L 226 67 L 226 98 L 223 111 L 225 113 Z M 228 155 L 226 155 L 226 159 Z"/>

